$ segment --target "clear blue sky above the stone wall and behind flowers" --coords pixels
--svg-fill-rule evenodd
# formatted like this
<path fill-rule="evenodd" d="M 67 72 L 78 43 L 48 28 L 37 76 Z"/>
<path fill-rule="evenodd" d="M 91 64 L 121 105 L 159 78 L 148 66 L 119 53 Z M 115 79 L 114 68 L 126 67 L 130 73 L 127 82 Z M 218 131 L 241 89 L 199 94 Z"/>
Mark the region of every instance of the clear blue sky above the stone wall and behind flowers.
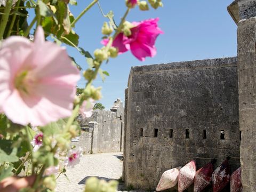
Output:
<path fill-rule="evenodd" d="M 103 64 L 103 69 L 110 74 L 102 83 L 97 78 L 94 86 L 102 86 L 103 98 L 99 101 L 106 109 L 113 106 L 117 98 L 124 101 L 124 90 L 127 87 L 132 66 L 169 63 L 209 58 L 234 57 L 237 55 L 236 25 L 227 12 L 227 6 L 232 0 L 162 0 L 163 8 L 150 11 L 133 9 L 127 17 L 128 21 L 141 21 L 159 17 L 159 27 L 164 31 L 156 41 L 157 55 L 141 62 L 130 52 L 119 55 L 116 59 Z M 77 0 L 77 6 L 70 6 L 75 16 L 91 1 Z M 119 23 L 126 7 L 124 0 L 100 0 L 105 14 L 113 10 L 115 21 Z M 87 12 L 76 24 L 75 31 L 80 36 L 79 46 L 86 51 L 93 51 L 102 45 L 101 27 L 104 21 L 97 5 Z M 68 47 L 68 52 L 84 68 L 87 68 L 85 58 L 74 48 Z M 79 87 L 85 86 L 81 79 Z"/>

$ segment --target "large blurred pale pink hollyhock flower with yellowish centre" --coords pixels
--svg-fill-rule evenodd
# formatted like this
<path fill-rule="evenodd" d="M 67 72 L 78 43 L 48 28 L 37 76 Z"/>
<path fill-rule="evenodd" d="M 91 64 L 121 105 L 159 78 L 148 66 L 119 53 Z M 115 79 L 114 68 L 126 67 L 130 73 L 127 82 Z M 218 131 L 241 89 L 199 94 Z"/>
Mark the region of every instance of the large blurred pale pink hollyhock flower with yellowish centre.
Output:
<path fill-rule="evenodd" d="M 12 122 L 43 126 L 71 115 L 79 71 L 63 47 L 45 41 L 42 27 L 34 42 L 3 42 L 0 74 L 0 110 Z"/>

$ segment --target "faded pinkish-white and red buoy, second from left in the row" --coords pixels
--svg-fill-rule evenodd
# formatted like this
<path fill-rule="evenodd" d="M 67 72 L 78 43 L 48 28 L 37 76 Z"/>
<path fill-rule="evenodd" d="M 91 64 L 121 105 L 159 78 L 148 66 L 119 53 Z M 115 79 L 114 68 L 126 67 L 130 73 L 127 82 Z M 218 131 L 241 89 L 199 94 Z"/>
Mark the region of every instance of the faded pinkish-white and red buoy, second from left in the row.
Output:
<path fill-rule="evenodd" d="M 196 174 L 196 162 L 190 161 L 188 164 L 183 166 L 179 172 L 179 185 L 178 191 L 182 192 L 193 184 Z"/>

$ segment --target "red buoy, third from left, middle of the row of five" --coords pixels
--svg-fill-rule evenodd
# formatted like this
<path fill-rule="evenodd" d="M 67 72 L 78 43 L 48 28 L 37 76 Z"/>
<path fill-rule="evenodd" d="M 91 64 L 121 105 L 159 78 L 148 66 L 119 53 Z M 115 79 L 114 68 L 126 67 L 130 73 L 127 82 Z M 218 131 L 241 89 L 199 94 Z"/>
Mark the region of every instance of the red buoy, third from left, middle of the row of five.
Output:
<path fill-rule="evenodd" d="M 201 192 L 207 186 L 211 185 L 213 173 L 213 164 L 208 163 L 201 169 L 197 170 L 194 179 L 194 192 Z"/>

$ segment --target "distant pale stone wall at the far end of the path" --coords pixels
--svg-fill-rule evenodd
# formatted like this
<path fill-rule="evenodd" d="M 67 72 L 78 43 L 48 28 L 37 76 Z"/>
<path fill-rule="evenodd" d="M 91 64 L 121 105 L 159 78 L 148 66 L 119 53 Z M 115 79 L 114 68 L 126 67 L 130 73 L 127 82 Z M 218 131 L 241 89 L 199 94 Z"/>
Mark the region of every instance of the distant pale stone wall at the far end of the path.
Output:
<path fill-rule="evenodd" d="M 80 146 L 85 154 L 109 153 L 123 150 L 123 102 L 117 99 L 110 111 L 94 110 L 90 122 L 81 125 L 81 136 L 71 145 Z"/>

